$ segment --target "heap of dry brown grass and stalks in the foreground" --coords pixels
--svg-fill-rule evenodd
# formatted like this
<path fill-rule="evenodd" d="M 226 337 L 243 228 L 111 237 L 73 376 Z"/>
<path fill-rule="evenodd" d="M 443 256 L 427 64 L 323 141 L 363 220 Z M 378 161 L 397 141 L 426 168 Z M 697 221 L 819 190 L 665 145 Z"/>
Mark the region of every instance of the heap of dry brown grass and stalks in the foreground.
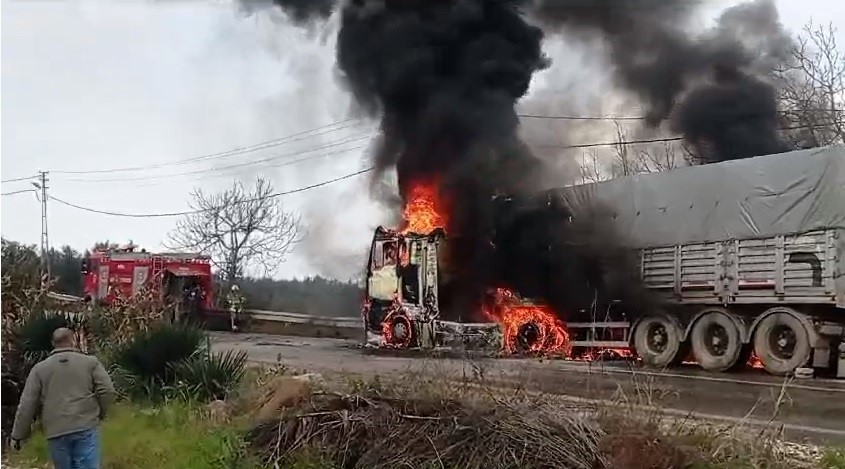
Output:
<path fill-rule="evenodd" d="M 300 467 L 303 455 L 317 461 L 307 467 L 343 468 L 820 467 L 776 429 L 665 415 L 647 379 L 632 378 L 642 381 L 635 392 L 620 386 L 613 400 L 595 405 L 493 385 L 479 374 L 347 377 L 291 401 L 247 439 L 270 467 Z"/>

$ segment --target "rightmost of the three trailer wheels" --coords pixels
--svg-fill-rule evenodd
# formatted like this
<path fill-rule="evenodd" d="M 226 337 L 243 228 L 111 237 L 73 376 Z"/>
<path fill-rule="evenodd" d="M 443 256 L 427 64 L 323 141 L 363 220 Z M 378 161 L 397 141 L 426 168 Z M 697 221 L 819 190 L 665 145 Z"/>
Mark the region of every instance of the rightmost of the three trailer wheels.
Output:
<path fill-rule="evenodd" d="M 811 351 L 804 324 L 789 313 L 766 316 L 754 331 L 754 354 L 773 375 L 792 373 L 807 363 Z"/>

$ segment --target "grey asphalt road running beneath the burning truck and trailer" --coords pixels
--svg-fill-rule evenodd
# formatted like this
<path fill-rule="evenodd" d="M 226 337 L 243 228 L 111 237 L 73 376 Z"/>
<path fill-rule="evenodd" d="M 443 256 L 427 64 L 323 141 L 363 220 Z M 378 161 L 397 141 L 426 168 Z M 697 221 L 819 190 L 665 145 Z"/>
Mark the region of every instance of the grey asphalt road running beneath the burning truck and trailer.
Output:
<path fill-rule="evenodd" d="M 434 358 L 362 350 L 357 342 L 262 334 L 215 334 L 212 347 L 245 350 L 252 361 L 319 373 L 363 375 L 434 373 L 483 376 L 491 385 L 524 387 L 598 405 L 625 399 L 659 406 L 669 415 L 695 416 L 757 431 L 782 427 L 790 439 L 845 444 L 845 382 L 791 380 L 762 372 L 705 374 L 695 368 L 665 372 L 636 365 L 528 358 Z"/>

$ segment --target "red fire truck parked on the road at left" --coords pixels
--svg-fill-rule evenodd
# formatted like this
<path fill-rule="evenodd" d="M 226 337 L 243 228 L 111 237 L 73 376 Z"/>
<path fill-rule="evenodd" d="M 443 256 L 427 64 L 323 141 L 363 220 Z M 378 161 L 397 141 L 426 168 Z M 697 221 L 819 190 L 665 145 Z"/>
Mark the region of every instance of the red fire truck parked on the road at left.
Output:
<path fill-rule="evenodd" d="M 202 310 L 212 301 L 211 259 L 202 254 L 151 253 L 129 244 L 95 249 L 83 260 L 86 301 L 111 304 L 148 289 L 161 300 L 192 298 Z"/>

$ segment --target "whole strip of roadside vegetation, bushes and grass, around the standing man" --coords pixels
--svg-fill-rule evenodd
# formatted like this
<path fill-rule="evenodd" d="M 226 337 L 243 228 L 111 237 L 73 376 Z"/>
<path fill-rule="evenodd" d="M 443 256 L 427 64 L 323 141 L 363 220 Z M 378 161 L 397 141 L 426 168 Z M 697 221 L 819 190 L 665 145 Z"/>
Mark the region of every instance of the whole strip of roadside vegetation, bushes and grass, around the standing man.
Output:
<path fill-rule="evenodd" d="M 3 431 L 50 335 L 72 328 L 109 369 L 119 402 L 101 428 L 104 468 L 845 468 L 845 450 L 785 444 L 775 431 L 714 427 L 644 411 L 641 396 L 587 407 L 503 388 L 484 373 L 448 379 L 318 376 L 248 368 L 203 331 L 172 325 L 141 295 L 109 308 L 55 303 L 31 269 L 6 263 Z M 35 271 L 37 272 L 37 270 Z M 40 433 L 4 467 L 49 467 Z"/>

